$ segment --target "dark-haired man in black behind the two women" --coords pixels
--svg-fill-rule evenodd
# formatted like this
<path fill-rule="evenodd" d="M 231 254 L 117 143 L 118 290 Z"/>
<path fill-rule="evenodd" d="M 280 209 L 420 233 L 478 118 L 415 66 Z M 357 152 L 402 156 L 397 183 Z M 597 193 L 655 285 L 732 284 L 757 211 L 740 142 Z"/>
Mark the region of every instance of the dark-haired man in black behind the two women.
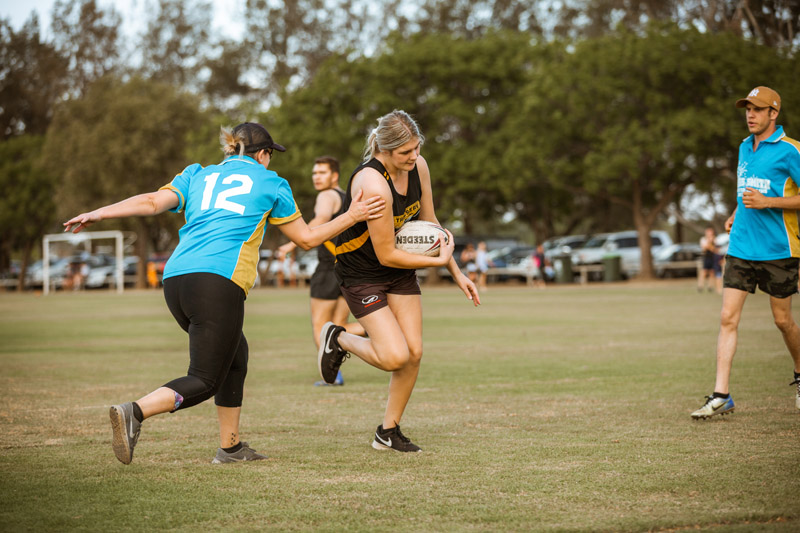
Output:
<path fill-rule="evenodd" d="M 311 170 L 311 180 L 317 192 L 314 203 L 314 218 L 308 221 L 309 227 L 324 224 L 343 213 L 345 193 L 339 187 L 339 161 L 333 157 L 318 157 Z M 289 241 L 278 248 L 279 255 L 290 254 L 297 245 Z M 311 334 L 319 349 L 319 334 L 326 322 L 342 326 L 348 333 L 363 335 L 364 327 L 358 322 L 347 322 L 350 308 L 339 289 L 339 280 L 333 271 L 336 262 L 335 245 L 325 241 L 317 246 L 317 268 L 311 275 Z M 317 381 L 315 385 L 328 385 Z M 331 385 L 344 385 L 342 372 Z"/>

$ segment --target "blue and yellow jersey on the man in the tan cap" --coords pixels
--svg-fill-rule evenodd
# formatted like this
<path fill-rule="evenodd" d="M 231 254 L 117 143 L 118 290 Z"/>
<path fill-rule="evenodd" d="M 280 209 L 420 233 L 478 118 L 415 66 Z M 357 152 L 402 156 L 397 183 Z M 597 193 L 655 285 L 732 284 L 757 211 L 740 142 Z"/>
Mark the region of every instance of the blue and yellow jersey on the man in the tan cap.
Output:
<path fill-rule="evenodd" d="M 800 142 L 786 137 L 778 126 L 753 151 L 753 136 L 739 147 L 736 169 L 736 217 L 728 253 L 750 261 L 800 257 L 800 227 L 794 209 L 748 209 L 742 202 L 746 188 L 764 196 L 788 198 L 798 193 Z"/>

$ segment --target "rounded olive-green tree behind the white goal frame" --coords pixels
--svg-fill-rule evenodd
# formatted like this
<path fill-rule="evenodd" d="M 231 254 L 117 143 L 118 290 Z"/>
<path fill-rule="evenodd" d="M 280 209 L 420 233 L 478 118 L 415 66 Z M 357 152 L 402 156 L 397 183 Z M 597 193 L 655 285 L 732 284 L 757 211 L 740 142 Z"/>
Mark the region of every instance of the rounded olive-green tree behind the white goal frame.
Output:
<path fill-rule="evenodd" d="M 80 100 L 64 103 L 47 132 L 45 154 L 62 176 L 59 217 L 158 189 L 187 165 L 192 132 L 208 127 L 196 97 L 172 86 L 133 78 L 103 78 Z M 218 136 L 216 130 L 215 136 Z M 206 142 L 211 143 L 215 137 Z M 205 146 L 205 144 L 204 144 Z M 182 223 L 174 214 L 108 221 L 133 229 L 140 266 Z M 139 268 L 144 286 L 144 269 Z"/>

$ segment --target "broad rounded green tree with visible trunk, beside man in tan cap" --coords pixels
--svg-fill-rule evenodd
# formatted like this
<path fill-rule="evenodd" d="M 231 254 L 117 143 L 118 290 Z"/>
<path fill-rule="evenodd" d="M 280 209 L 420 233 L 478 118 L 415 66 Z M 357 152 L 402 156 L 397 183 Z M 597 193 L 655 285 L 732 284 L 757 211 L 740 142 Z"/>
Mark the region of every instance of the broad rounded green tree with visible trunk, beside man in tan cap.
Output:
<path fill-rule="evenodd" d="M 666 207 L 689 184 L 735 177 L 746 130 L 733 102 L 765 80 L 796 93 L 786 72 L 798 72 L 795 59 L 674 26 L 564 46 L 510 117 L 507 157 L 578 198 L 624 207 L 650 277 L 649 231 Z"/>

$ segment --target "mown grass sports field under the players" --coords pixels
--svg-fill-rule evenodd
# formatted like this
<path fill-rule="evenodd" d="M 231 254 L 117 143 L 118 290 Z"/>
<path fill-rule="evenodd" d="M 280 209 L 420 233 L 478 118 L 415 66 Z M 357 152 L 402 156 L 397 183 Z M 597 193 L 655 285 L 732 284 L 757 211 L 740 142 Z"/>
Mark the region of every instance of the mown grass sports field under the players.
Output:
<path fill-rule="evenodd" d="M 255 290 L 242 437 L 211 465 L 212 402 L 145 422 L 117 462 L 108 406 L 185 373 L 160 292 L 0 293 L 1 531 L 800 531 L 800 412 L 767 297 L 745 306 L 737 412 L 713 388 L 720 298 L 692 281 L 424 290 L 425 356 L 377 452 L 388 375 L 315 388 L 307 292 Z"/>

